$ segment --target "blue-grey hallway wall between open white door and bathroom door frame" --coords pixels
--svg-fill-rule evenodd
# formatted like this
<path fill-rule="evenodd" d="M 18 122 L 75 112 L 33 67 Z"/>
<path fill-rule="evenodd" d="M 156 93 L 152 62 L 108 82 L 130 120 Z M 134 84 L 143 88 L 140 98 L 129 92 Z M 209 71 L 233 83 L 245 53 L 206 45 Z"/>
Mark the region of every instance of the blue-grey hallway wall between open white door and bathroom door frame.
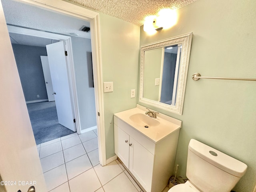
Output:
<path fill-rule="evenodd" d="M 81 130 L 96 126 L 91 40 L 71 37 Z"/>

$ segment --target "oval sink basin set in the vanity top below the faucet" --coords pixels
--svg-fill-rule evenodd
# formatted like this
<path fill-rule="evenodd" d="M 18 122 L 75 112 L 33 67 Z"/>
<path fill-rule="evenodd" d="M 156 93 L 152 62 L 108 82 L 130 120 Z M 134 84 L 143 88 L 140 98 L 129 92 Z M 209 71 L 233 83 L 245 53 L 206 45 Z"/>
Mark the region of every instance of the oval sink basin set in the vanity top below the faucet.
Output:
<path fill-rule="evenodd" d="M 145 114 L 136 113 L 130 116 L 130 120 L 132 120 L 134 123 L 140 125 L 140 126 L 158 126 L 160 122 L 158 120 L 147 116 Z"/>

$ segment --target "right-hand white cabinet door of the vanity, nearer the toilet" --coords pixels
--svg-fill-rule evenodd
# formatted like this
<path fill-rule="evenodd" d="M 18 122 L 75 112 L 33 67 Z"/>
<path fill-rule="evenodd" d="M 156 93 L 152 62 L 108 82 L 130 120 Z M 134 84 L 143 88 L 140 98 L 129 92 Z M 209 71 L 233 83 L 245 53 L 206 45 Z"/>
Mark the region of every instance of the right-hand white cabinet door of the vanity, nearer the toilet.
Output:
<path fill-rule="evenodd" d="M 151 191 L 154 155 L 130 137 L 129 170 L 147 192 Z"/>

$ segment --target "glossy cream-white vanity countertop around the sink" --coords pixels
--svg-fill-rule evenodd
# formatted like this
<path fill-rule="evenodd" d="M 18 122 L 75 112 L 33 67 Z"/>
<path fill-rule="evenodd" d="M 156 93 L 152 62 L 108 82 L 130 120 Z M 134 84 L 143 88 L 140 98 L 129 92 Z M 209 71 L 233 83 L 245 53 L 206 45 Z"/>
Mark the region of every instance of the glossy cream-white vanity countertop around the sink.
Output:
<path fill-rule="evenodd" d="M 145 128 L 143 123 L 138 124 L 130 118 L 130 116 L 134 114 L 145 115 L 146 111 L 147 109 L 145 107 L 137 104 L 136 108 L 115 113 L 114 116 L 126 122 L 128 125 L 132 126 L 135 130 L 142 133 L 144 136 L 152 140 L 154 143 L 159 142 L 160 140 L 162 140 L 172 132 L 181 128 L 182 121 L 172 118 L 170 116 L 166 116 L 164 114 L 157 114 L 157 118 L 152 118 L 154 122 L 157 121 L 156 122 L 157 125 L 149 126 L 148 128 Z"/>

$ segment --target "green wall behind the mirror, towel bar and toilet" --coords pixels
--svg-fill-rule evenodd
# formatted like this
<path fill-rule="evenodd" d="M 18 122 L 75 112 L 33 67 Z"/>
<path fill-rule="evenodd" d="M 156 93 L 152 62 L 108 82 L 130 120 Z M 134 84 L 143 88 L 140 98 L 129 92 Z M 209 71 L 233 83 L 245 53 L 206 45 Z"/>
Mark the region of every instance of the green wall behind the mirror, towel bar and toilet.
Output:
<path fill-rule="evenodd" d="M 256 78 L 256 1 L 197 0 L 178 9 L 178 23 L 148 36 L 140 28 L 140 45 L 193 32 L 176 163 L 186 175 L 188 143 L 195 138 L 248 165 L 236 192 L 256 184 L 256 82 L 192 80 L 202 76 Z M 143 106 L 145 104 L 139 103 Z M 150 107 L 150 106 L 148 106 Z"/>

